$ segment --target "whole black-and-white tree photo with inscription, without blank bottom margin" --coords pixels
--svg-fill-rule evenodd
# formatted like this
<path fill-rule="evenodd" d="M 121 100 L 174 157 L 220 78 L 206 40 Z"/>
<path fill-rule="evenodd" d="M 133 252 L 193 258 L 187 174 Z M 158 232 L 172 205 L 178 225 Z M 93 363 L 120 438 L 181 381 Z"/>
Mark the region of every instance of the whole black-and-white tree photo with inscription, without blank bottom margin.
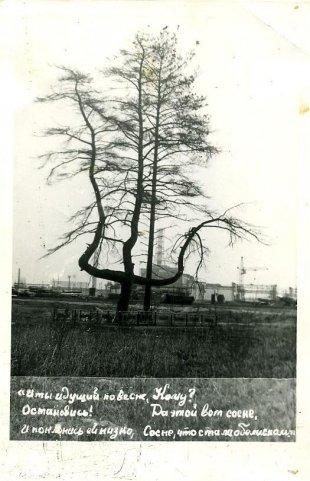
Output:
<path fill-rule="evenodd" d="M 21 8 L 11 438 L 294 441 L 301 9 Z"/>

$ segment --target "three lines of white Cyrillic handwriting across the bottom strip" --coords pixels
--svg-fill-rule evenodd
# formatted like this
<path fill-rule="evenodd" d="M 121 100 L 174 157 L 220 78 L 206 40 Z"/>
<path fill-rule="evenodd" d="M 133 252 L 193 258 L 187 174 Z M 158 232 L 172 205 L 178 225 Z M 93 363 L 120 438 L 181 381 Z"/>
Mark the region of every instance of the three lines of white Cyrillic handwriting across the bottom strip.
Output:
<path fill-rule="evenodd" d="M 224 409 L 214 401 L 206 402 L 195 387 L 175 390 L 169 383 L 155 386 L 148 393 L 134 388 L 113 389 L 110 385 L 109 389 L 93 386 L 85 392 L 69 386 L 59 386 L 55 391 L 26 386 L 15 394 L 19 399 L 19 433 L 27 439 L 227 440 L 295 436 L 291 429 L 259 425 L 259 415 L 252 407 Z"/>

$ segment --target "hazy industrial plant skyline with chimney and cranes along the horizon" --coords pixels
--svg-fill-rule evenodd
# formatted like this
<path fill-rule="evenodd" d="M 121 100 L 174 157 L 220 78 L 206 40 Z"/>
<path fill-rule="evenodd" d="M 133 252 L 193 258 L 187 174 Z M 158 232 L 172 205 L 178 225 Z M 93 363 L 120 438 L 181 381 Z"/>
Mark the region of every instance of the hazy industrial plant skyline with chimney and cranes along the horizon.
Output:
<path fill-rule="evenodd" d="M 163 229 L 159 230 L 157 236 L 156 263 L 153 264 L 152 278 L 166 279 L 176 274 L 177 268 L 170 266 L 164 261 L 164 236 Z M 94 259 L 98 264 L 98 257 Z M 190 296 L 197 303 L 199 302 L 274 302 L 281 298 L 297 301 L 297 289 L 289 287 L 286 290 L 278 289 L 277 285 L 249 284 L 246 283 L 246 274 L 249 271 L 268 270 L 267 267 L 245 267 L 244 259 L 241 257 L 238 282 L 230 285 L 221 285 L 198 280 L 196 277 L 183 273 L 180 278 L 168 286 L 154 287 L 152 289 L 153 301 L 158 301 L 165 295 Z M 146 267 L 140 266 L 140 275 L 146 277 Z M 67 276 L 67 280 L 53 279 L 50 284 L 27 284 L 21 277 L 18 269 L 18 279 L 13 289 L 23 289 L 41 294 L 71 294 L 76 296 L 99 296 L 101 298 L 116 299 L 120 293 L 120 284 L 107 282 L 103 285 L 102 280 L 90 277 L 88 282 L 77 282 L 75 276 Z M 143 299 L 143 287 L 134 286 L 133 297 L 136 300 Z"/>

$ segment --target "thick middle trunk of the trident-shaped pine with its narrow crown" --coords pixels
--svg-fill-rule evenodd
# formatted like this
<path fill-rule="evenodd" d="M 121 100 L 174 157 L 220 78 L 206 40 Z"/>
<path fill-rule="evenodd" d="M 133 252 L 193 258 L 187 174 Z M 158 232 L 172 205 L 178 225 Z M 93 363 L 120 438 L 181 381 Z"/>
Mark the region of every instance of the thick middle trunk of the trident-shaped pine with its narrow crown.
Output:
<path fill-rule="evenodd" d="M 122 261 L 126 274 L 121 282 L 118 310 L 128 309 L 132 286 L 134 283 L 134 262 L 132 250 L 139 237 L 139 222 L 144 199 L 144 163 L 145 149 L 150 145 L 145 129 L 145 65 L 148 52 L 144 46 L 143 35 L 137 35 L 132 50 L 122 50 L 120 66 L 114 65 L 105 74 L 118 82 L 121 95 L 112 99 L 113 120 L 121 136 L 120 145 L 127 149 L 132 160 L 131 173 L 135 174 L 134 200 L 130 212 L 130 232 L 122 247 Z"/>

